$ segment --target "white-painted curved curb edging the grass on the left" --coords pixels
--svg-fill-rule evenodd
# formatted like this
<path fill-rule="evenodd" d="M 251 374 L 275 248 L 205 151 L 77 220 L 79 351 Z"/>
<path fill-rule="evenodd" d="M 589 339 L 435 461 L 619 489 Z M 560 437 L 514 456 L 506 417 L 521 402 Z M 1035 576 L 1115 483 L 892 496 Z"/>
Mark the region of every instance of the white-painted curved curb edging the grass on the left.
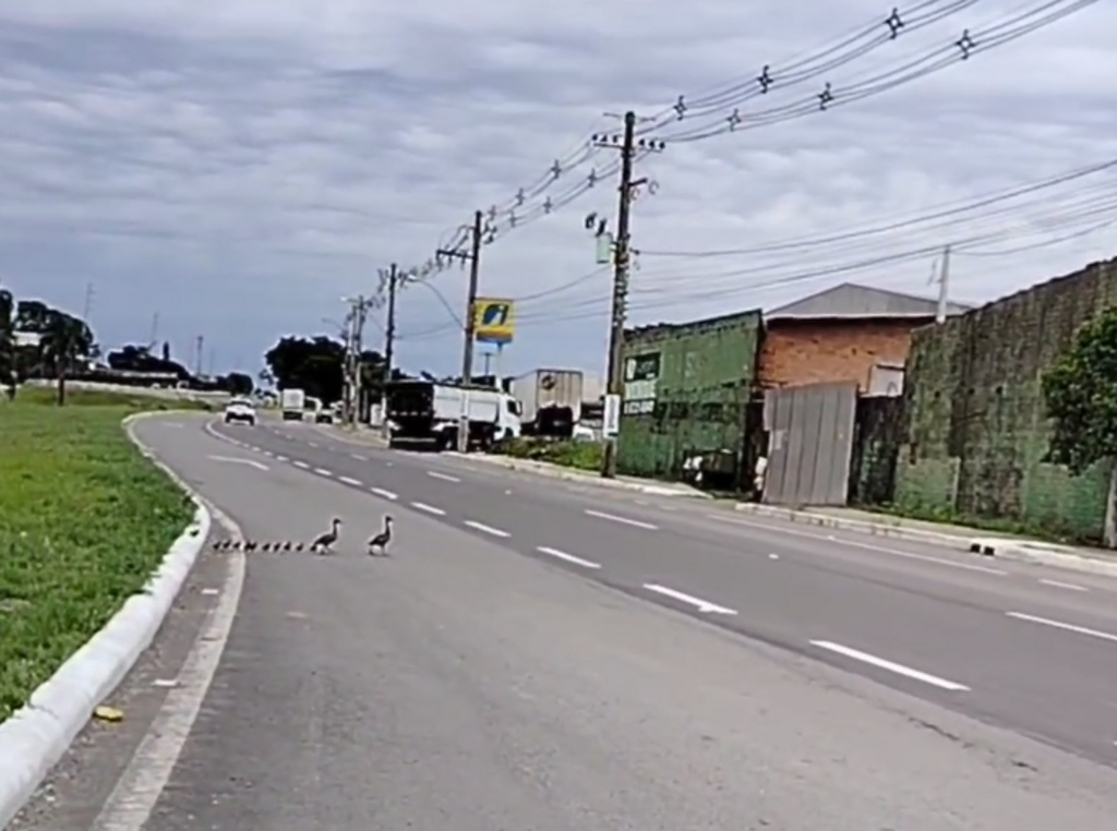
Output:
<path fill-rule="evenodd" d="M 7 828 L 31 799 L 94 708 L 112 695 L 151 646 L 206 545 L 212 524 L 209 510 L 132 431 L 132 424 L 149 414 L 128 417 L 125 430 L 146 458 L 190 494 L 197 505 L 193 522 L 171 545 L 143 592 L 128 598 L 104 629 L 31 694 L 25 707 L 0 723 L 0 828 Z"/>

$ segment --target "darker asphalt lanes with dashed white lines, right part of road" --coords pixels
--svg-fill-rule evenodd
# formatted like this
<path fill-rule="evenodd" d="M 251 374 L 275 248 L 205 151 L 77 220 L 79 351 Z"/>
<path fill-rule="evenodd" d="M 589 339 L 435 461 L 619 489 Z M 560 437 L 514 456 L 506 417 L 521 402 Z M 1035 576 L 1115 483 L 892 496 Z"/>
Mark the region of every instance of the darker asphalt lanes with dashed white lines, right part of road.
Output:
<path fill-rule="evenodd" d="M 1117 764 L 1117 581 L 356 447 L 214 427 L 503 547 Z"/>

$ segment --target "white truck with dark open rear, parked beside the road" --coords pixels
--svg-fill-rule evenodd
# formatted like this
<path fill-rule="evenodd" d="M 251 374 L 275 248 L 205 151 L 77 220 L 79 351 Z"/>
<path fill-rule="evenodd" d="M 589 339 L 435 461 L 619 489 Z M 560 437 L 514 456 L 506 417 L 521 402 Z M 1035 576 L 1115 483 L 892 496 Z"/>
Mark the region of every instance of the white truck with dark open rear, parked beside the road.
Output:
<path fill-rule="evenodd" d="M 489 386 L 393 381 L 384 389 L 384 401 L 391 447 L 414 442 L 452 449 L 462 414 L 471 448 L 485 449 L 521 434 L 519 402 Z"/>

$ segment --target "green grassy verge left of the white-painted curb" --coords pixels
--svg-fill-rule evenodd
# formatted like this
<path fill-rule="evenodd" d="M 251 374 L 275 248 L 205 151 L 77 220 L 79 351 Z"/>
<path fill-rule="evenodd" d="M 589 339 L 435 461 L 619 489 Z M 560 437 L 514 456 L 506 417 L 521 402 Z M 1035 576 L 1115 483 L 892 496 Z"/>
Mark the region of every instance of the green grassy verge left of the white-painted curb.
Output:
<path fill-rule="evenodd" d="M 121 427 L 179 402 L 52 400 L 0 403 L 0 720 L 143 588 L 194 510 Z"/>

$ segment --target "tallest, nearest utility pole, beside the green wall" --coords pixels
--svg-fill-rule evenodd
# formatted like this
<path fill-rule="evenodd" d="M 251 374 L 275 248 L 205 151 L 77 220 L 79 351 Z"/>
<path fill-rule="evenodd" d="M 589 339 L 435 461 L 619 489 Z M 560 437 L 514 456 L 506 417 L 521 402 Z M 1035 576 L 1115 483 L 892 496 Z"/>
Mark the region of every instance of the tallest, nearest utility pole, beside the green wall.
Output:
<path fill-rule="evenodd" d="M 617 136 L 596 135 L 593 143 L 599 147 L 614 147 L 621 152 L 621 181 L 618 188 L 617 240 L 613 245 L 613 299 L 609 328 L 609 362 L 607 369 L 608 392 L 622 397 L 624 393 L 624 321 L 628 314 L 629 273 L 631 262 L 631 237 L 629 217 L 636 189 L 647 179 L 632 179 L 632 162 L 638 150 L 661 151 L 658 141 L 636 140 L 637 115 L 632 111 L 624 114 L 624 132 L 618 143 Z M 618 400 L 623 400 L 618 398 Z M 617 437 L 605 438 L 605 452 L 601 464 L 601 476 L 617 478 Z"/>

